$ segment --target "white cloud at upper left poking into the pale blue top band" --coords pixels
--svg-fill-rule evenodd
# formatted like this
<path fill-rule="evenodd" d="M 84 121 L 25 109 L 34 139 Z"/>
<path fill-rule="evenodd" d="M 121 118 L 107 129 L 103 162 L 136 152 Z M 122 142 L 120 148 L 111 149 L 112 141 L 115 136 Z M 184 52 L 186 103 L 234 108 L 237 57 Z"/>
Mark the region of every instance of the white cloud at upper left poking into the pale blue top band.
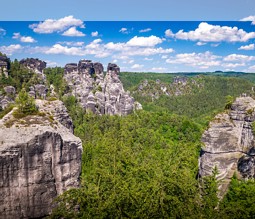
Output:
<path fill-rule="evenodd" d="M 36 33 L 62 32 L 70 27 L 85 28 L 83 21 L 74 18 L 72 15 L 60 18 L 58 20 L 47 19 L 43 22 L 29 25 L 29 28 L 33 29 L 33 31 Z"/>

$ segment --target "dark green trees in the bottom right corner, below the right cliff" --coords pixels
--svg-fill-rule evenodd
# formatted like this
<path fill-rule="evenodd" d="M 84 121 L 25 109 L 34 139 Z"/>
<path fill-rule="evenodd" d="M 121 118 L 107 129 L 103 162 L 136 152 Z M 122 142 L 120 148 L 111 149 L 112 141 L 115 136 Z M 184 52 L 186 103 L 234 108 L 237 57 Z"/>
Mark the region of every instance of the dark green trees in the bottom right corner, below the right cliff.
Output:
<path fill-rule="evenodd" d="M 229 190 L 219 205 L 221 218 L 255 218 L 254 179 L 241 181 L 234 176 Z"/>

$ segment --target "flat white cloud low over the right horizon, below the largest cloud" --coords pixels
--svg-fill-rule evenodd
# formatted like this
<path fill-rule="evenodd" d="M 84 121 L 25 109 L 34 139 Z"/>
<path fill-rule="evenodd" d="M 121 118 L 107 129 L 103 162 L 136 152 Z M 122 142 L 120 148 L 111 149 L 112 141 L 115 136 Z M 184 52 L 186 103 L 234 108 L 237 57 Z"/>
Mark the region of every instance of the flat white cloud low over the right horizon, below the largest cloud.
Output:
<path fill-rule="evenodd" d="M 184 64 L 201 69 L 207 69 L 211 66 L 219 66 L 221 64 L 219 58 L 220 56 L 213 55 L 209 51 L 205 53 L 193 52 L 177 54 L 175 57 L 167 59 L 166 62 L 170 64 Z"/>

